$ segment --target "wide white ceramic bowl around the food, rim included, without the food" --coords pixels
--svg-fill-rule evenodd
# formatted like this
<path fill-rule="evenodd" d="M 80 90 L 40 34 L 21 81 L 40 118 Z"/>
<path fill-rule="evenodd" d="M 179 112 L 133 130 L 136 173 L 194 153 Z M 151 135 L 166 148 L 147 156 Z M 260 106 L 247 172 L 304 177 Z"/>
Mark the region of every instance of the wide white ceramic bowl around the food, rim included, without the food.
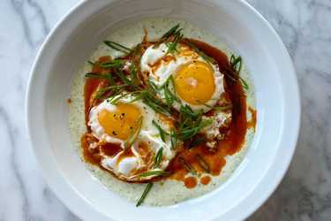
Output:
<path fill-rule="evenodd" d="M 186 19 L 226 40 L 244 57 L 256 90 L 258 126 L 244 161 L 212 193 L 169 207 L 136 208 L 94 180 L 71 148 L 71 80 L 112 28 L 147 17 Z M 265 19 L 239 0 L 95 0 L 64 16 L 34 63 L 27 125 L 49 187 L 86 220 L 242 220 L 267 200 L 293 156 L 300 104 L 296 73 Z"/>

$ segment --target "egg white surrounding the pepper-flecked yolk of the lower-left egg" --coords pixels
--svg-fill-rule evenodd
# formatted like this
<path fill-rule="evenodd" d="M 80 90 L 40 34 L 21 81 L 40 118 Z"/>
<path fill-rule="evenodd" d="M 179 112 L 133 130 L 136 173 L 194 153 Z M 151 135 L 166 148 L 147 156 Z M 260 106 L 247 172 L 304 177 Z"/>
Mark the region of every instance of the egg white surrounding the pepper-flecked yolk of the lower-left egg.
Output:
<path fill-rule="evenodd" d="M 118 100 L 118 103 L 131 103 L 132 105 L 135 105 L 141 110 L 142 113 L 141 129 L 136 141 L 132 144 L 131 147 L 133 156 L 121 157 L 124 154 L 125 141 L 117 139 L 116 137 L 111 136 L 111 134 L 105 133 L 105 130 L 102 128 L 98 119 L 100 111 L 114 111 L 117 109 L 116 104 L 109 103 L 109 101 L 105 100 L 92 108 L 89 113 L 88 126 L 91 128 L 92 134 L 100 142 L 120 143 L 123 149 L 116 156 L 107 156 L 101 153 L 102 167 L 114 172 L 119 178 L 136 181 L 153 178 L 153 176 L 140 178 L 139 174 L 135 173 L 135 171 L 139 170 L 139 168 L 146 166 L 144 165 L 142 156 L 140 156 L 139 153 L 135 150 L 140 142 L 145 141 L 148 143 L 150 150 L 154 152 L 154 156 L 156 156 L 159 149 L 162 148 L 162 160 L 157 168 L 150 168 L 151 170 L 165 169 L 168 166 L 169 161 L 176 155 L 176 152 L 175 150 L 171 149 L 171 141 L 169 137 L 167 137 L 165 141 L 162 141 L 160 132 L 157 127 L 154 126 L 153 120 L 156 121 L 157 124 L 161 126 L 162 129 L 166 132 L 169 132 L 170 126 L 166 122 L 162 121 L 159 115 L 156 114 L 154 110 L 149 108 L 141 100 L 132 102 L 132 99 L 134 98 L 135 97 L 128 95 Z"/>

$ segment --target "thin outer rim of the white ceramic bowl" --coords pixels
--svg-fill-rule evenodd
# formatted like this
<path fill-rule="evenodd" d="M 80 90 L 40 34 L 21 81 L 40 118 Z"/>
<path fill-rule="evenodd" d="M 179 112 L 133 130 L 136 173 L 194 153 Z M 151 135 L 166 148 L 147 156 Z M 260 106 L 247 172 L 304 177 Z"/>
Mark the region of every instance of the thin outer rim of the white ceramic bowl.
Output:
<path fill-rule="evenodd" d="M 117 0 L 110 0 L 109 4 L 115 2 Z M 34 80 L 36 78 L 36 72 L 37 72 L 37 68 L 40 64 L 40 59 L 42 54 L 44 53 L 44 50 L 47 49 L 49 42 L 51 42 L 52 36 L 56 33 L 57 29 L 61 26 L 64 25 L 64 23 L 68 20 L 71 19 L 71 16 L 73 16 L 73 14 L 77 11 L 79 11 L 81 8 L 83 8 L 85 6 L 85 4 L 87 4 L 87 2 L 89 2 L 88 0 L 82 0 L 79 3 L 75 4 L 74 6 L 71 7 L 71 9 L 69 11 L 67 11 L 66 13 L 64 13 L 64 16 L 59 19 L 56 22 L 56 25 L 52 28 L 52 30 L 49 32 L 49 34 L 47 35 L 46 39 L 44 40 L 44 42 L 42 42 L 41 44 L 41 48 L 38 51 L 35 59 L 34 59 L 34 64 L 32 65 L 32 69 L 30 71 L 29 74 L 29 78 L 28 78 L 28 83 L 27 83 L 27 89 L 26 89 L 26 129 L 27 129 L 27 135 L 28 135 L 28 140 L 30 141 L 30 143 L 32 144 L 32 148 L 33 148 L 33 152 L 34 152 L 34 157 L 36 158 L 40 168 L 41 168 L 41 176 L 43 177 L 43 179 L 46 180 L 46 183 L 48 185 L 48 187 L 52 190 L 53 193 L 56 194 L 56 197 L 58 197 L 58 199 L 60 199 L 61 202 L 64 203 L 64 205 L 71 210 L 76 216 L 83 218 L 83 219 L 91 219 L 93 220 L 95 217 L 95 214 L 100 214 L 104 219 L 109 219 L 109 217 L 105 217 L 103 214 L 101 214 L 98 210 L 95 210 L 93 208 L 92 205 L 90 205 L 90 207 L 94 210 L 94 214 L 90 214 L 87 215 L 86 211 L 82 211 L 81 208 L 79 208 L 80 204 L 75 204 L 75 203 L 70 203 L 67 202 L 67 196 L 64 194 L 63 189 L 61 189 L 62 187 L 59 187 L 59 185 L 56 185 L 53 181 L 53 179 L 50 178 L 50 175 L 48 173 L 47 170 L 45 170 L 43 167 L 41 167 L 41 155 L 40 153 L 38 153 L 37 149 L 36 149 L 36 143 L 33 140 L 33 122 L 32 122 L 32 118 L 30 118 L 30 116 L 32 115 L 30 109 L 31 109 L 31 104 L 32 101 L 34 100 L 34 98 L 32 97 L 32 85 L 34 84 Z M 291 82 L 291 86 L 292 88 L 292 92 L 293 94 L 291 94 L 291 99 L 297 103 L 294 103 L 293 110 L 291 110 L 292 112 L 294 112 L 294 116 L 297 116 L 296 118 L 294 118 L 292 120 L 292 122 L 294 122 L 293 126 L 292 126 L 292 137 L 291 140 L 289 141 L 290 145 L 289 145 L 289 152 L 288 155 L 286 157 L 284 157 L 282 159 L 282 166 L 281 166 L 281 171 L 278 172 L 276 174 L 276 176 L 274 177 L 274 180 L 269 182 L 269 186 L 267 187 L 267 189 L 265 189 L 263 191 L 263 194 L 260 195 L 260 198 L 258 198 L 255 202 L 252 202 L 252 204 L 250 206 L 248 206 L 241 214 L 237 214 L 237 219 L 238 220 L 244 220 L 245 218 L 249 217 L 250 215 L 252 215 L 252 213 L 256 210 L 258 210 L 260 208 L 260 206 L 267 201 L 267 199 L 270 197 L 271 194 L 273 194 L 275 192 L 276 187 L 279 186 L 280 182 L 282 181 L 283 177 L 285 176 L 286 172 L 289 170 L 290 167 L 290 162 L 293 158 L 293 155 L 295 153 L 295 149 L 297 147 L 297 139 L 298 139 L 298 135 L 299 135 L 299 131 L 300 131 L 300 121 L 301 121 L 301 101 L 300 101 L 300 94 L 299 94 L 299 88 L 298 88 L 298 83 L 297 83 L 297 73 L 295 71 L 294 65 L 292 63 L 292 60 L 290 58 L 290 54 L 288 52 L 288 50 L 286 49 L 284 43 L 282 42 L 282 39 L 280 38 L 280 36 L 276 33 L 274 27 L 272 27 L 269 22 L 267 21 L 267 19 L 265 19 L 259 11 L 257 11 L 255 8 L 252 7 L 251 4 L 248 4 L 245 0 L 237 0 L 237 2 L 239 4 L 242 4 L 244 7 L 246 7 L 246 9 L 248 11 L 251 11 L 255 16 L 258 17 L 258 19 L 260 19 L 263 23 L 263 25 L 267 28 L 267 31 L 271 32 L 271 34 L 273 34 L 273 36 L 275 37 L 275 40 L 277 41 L 277 43 L 281 46 L 281 50 L 283 52 L 283 54 L 285 55 L 285 59 L 289 62 L 289 66 L 288 68 L 290 68 L 290 74 L 292 74 L 292 82 Z M 56 173 L 58 173 L 57 175 L 61 176 L 61 171 L 56 171 Z M 63 179 L 63 177 L 62 177 Z M 265 177 L 264 177 L 265 179 Z M 64 183 L 62 185 L 65 186 L 70 186 L 70 184 L 67 182 L 67 180 L 62 180 L 64 181 Z M 69 187 L 70 188 L 70 187 Z M 72 191 L 72 189 L 69 189 Z M 74 193 L 74 194 L 78 194 L 78 193 Z M 112 218 L 111 218 L 112 219 Z"/>

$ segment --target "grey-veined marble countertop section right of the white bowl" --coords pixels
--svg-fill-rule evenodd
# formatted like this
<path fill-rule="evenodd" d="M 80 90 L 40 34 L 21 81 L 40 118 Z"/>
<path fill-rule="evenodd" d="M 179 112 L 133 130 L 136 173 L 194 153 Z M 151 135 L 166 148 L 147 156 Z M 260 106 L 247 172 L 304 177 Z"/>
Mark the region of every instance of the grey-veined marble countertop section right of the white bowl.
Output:
<path fill-rule="evenodd" d="M 331 220 L 331 1 L 249 1 L 290 50 L 302 101 L 290 170 L 250 220 Z"/>

